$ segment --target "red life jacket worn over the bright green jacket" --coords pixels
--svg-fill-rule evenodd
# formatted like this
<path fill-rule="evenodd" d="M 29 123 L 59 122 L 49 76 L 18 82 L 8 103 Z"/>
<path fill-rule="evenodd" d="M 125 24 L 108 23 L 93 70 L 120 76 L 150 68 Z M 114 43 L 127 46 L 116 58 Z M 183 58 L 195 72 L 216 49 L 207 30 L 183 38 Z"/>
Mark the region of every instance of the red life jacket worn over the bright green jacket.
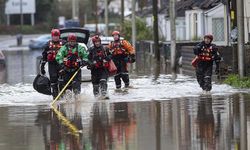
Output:
<path fill-rule="evenodd" d="M 78 45 L 76 45 L 74 48 L 76 48 L 76 51 L 73 53 L 72 49 L 68 45 L 66 45 L 66 48 L 68 49 L 68 54 L 66 58 L 64 58 L 63 63 L 68 69 L 76 69 L 79 67 L 79 55 L 78 55 Z"/>

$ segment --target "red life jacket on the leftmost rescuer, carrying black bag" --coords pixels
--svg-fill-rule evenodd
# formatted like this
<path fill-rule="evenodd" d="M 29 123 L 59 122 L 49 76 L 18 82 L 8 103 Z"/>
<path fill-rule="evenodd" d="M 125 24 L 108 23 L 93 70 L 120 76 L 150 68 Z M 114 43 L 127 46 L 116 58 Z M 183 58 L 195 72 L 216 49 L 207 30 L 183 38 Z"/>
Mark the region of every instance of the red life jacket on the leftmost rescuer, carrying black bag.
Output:
<path fill-rule="evenodd" d="M 55 61 L 56 54 L 57 54 L 58 50 L 62 47 L 62 45 L 63 45 L 62 41 L 59 41 L 57 43 L 49 41 L 49 50 L 47 52 L 47 60 L 49 62 Z"/>

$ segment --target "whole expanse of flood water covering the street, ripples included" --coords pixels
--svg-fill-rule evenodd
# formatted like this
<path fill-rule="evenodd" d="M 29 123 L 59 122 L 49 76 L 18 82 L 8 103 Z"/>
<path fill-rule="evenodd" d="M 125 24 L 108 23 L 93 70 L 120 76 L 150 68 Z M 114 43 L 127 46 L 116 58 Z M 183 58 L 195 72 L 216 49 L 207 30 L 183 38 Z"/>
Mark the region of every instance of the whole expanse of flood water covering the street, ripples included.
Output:
<path fill-rule="evenodd" d="M 91 83 L 83 83 L 79 99 L 60 100 L 50 107 L 52 98 L 35 92 L 31 84 L 38 55 L 6 55 L 7 83 L 0 84 L 0 150 L 250 147 L 247 89 L 214 83 L 212 94 L 204 96 L 195 78 L 179 74 L 173 81 L 163 65 L 153 69 L 142 57 L 128 93 L 114 92 L 110 79 L 110 100 L 97 100 Z"/>

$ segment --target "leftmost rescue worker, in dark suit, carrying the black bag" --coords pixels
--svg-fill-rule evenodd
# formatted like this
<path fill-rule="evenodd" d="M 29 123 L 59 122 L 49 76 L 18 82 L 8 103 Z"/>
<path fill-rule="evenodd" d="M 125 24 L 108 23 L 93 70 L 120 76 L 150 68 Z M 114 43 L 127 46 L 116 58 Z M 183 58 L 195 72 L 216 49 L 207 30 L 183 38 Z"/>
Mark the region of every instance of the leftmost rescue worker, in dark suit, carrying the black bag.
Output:
<path fill-rule="evenodd" d="M 60 39 L 60 31 L 58 29 L 51 30 L 51 40 L 49 40 L 43 50 L 42 59 L 40 62 L 40 71 L 44 75 L 44 66 L 48 62 L 49 78 L 52 88 L 52 96 L 55 98 L 58 95 L 58 72 L 59 65 L 56 62 L 56 54 L 65 42 Z"/>

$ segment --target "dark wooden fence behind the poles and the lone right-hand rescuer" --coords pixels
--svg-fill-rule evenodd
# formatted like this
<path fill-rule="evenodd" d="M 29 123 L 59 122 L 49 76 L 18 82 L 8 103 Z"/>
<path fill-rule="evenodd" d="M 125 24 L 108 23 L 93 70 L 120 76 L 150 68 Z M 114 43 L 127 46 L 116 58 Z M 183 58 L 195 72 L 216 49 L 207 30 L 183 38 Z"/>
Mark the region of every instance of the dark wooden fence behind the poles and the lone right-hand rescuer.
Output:
<path fill-rule="evenodd" d="M 194 58 L 193 47 L 197 45 L 197 42 L 180 42 L 176 43 L 177 64 L 180 64 L 184 74 L 194 75 L 194 69 L 191 66 L 191 61 Z M 160 54 L 161 60 L 165 63 L 170 62 L 170 42 L 160 42 Z M 220 52 L 223 61 L 220 65 L 220 75 L 219 77 L 224 78 L 229 73 L 237 73 L 237 45 L 233 46 L 218 46 L 218 51 Z M 136 53 L 138 56 L 151 55 L 154 57 L 154 43 L 153 41 L 140 41 L 136 43 Z M 246 74 L 250 75 L 250 45 L 245 46 L 245 70 Z M 138 61 L 141 61 L 141 57 L 137 57 Z M 145 57 L 144 57 L 145 59 Z M 181 63 L 178 61 L 181 60 Z M 146 60 L 142 60 L 146 61 Z M 137 66 L 140 67 L 140 66 Z"/>

